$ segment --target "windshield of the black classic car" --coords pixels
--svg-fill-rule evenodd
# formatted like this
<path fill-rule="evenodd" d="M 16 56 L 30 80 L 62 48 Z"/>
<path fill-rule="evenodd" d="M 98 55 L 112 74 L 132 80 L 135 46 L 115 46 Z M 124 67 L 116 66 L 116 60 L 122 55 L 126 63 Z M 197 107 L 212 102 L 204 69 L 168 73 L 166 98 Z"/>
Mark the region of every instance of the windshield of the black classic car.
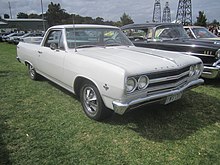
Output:
<path fill-rule="evenodd" d="M 181 26 L 160 26 L 155 31 L 155 39 L 180 39 L 189 38 Z"/>

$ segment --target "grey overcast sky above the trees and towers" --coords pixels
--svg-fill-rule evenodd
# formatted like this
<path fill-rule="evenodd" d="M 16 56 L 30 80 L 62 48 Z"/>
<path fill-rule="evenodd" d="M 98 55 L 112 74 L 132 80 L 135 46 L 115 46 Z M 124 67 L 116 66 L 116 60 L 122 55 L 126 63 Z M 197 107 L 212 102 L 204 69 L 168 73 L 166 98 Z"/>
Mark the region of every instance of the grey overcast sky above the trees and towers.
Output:
<path fill-rule="evenodd" d="M 50 2 L 60 3 L 61 8 L 68 13 L 102 17 L 105 21 L 119 21 L 122 14 L 128 14 L 135 23 L 152 21 L 155 0 L 42 0 L 43 10 L 47 11 Z M 11 4 L 12 17 L 16 18 L 19 12 L 41 14 L 41 0 L 0 0 L 0 15 L 9 14 Z M 176 17 L 179 0 L 160 0 L 163 10 L 169 2 L 171 19 Z M 220 21 L 220 0 L 192 0 L 193 22 L 196 21 L 199 11 L 204 11 L 209 22 L 214 19 Z"/>

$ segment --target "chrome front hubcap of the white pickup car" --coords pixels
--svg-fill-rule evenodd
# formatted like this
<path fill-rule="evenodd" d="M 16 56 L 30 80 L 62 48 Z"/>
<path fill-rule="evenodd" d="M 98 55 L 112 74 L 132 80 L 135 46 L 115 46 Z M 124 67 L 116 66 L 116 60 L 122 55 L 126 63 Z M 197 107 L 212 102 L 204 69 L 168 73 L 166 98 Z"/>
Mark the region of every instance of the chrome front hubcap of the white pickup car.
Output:
<path fill-rule="evenodd" d="M 95 114 L 98 109 L 98 100 L 95 91 L 91 87 L 83 90 L 84 105 L 90 114 Z"/>

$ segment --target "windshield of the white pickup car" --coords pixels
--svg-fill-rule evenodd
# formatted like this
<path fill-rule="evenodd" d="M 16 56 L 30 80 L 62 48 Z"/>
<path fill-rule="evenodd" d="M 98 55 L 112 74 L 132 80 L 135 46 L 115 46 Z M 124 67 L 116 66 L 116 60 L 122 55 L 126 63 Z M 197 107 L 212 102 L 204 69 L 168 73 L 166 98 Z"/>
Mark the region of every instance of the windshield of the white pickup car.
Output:
<path fill-rule="evenodd" d="M 69 48 L 133 45 L 124 33 L 113 28 L 67 28 L 66 40 Z"/>

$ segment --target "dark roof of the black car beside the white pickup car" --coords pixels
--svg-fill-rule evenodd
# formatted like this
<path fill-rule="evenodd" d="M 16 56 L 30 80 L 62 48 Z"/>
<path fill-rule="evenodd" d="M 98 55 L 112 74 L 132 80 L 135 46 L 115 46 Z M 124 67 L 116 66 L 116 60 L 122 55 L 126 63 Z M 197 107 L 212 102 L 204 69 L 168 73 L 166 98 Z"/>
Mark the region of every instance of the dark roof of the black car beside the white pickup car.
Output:
<path fill-rule="evenodd" d="M 174 26 L 174 25 L 179 25 L 182 26 L 181 24 L 178 23 L 143 23 L 143 24 L 128 24 L 125 26 L 122 26 L 121 29 L 130 29 L 130 28 L 150 28 L 150 27 L 157 27 L 157 26 Z"/>

